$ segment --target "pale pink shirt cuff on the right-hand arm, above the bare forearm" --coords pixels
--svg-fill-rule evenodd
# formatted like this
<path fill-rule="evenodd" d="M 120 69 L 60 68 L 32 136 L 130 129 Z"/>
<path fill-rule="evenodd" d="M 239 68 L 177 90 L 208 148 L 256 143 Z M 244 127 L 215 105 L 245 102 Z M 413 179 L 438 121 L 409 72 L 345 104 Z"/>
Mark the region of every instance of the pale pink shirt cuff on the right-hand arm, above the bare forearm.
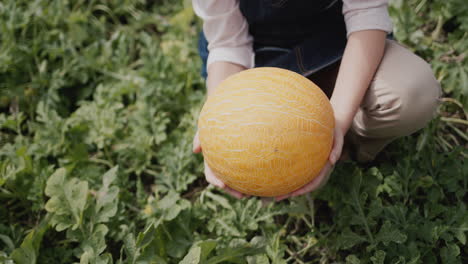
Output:
<path fill-rule="evenodd" d="M 365 10 L 353 10 L 344 14 L 347 36 L 361 30 L 378 29 L 392 32 L 393 24 L 388 14 L 387 5 Z"/>

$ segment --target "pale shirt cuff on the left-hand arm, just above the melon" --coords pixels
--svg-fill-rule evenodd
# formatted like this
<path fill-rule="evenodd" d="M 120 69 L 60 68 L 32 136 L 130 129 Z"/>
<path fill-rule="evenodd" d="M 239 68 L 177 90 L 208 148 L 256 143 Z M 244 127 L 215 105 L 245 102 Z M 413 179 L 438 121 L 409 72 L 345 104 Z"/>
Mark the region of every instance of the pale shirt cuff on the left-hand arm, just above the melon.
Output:
<path fill-rule="evenodd" d="M 247 69 L 253 68 L 254 52 L 249 47 L 219 47 L 210 50 L 208 55 L 208 66 L 215 61 L 226 61 L 242 65 Z"/>

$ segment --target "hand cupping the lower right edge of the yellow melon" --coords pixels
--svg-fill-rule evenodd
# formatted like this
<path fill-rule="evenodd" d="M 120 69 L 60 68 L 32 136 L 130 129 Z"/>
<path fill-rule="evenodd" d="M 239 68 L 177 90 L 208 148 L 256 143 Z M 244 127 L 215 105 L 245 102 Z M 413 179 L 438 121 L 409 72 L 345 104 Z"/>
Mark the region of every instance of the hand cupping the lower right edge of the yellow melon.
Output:
<path fill-rule="evenodd" d="M 276 201 L 281 201 L 283 199 L 289 198 L 289 197 L 295 197 L 299 195 L 306 194 L 308 192 L 312 192 L 314 190 L 319 189 L 325 183 L 327 183 L 328 178 L 330 177 L 331 171 L 335 163 L 338 161 L 338 159 L 341 156 L 341 151 L 343 149 L 343 142 L 344 142 L 344 132 L 341 129 L 341 126 L 338 126 L 338 124 L 335 126 L 334 132 L 333 132 L 333 147 L 332 150 L 330 151 L 330 155 L 328 158 L 327 163 L 325 166 L 322 168 L 320 171 L 319 175 L 315 177 L 311 182 L 308 184 L 302 186 L 301 188 L 285 194 L 281 196 L 275 197 Z"/>

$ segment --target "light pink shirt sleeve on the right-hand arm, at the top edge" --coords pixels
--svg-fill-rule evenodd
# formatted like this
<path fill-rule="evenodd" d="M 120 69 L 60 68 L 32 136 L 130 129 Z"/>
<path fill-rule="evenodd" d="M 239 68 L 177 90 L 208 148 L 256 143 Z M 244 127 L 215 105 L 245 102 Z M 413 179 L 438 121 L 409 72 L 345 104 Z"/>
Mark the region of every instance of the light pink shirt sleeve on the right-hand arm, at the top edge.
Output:
<path fill-rule="evenodd" d="M 368 29 L 390 33 L 393 28 L 388 14 L 388 0 L 343 0 L 343 14 L 348 36 Z"/>

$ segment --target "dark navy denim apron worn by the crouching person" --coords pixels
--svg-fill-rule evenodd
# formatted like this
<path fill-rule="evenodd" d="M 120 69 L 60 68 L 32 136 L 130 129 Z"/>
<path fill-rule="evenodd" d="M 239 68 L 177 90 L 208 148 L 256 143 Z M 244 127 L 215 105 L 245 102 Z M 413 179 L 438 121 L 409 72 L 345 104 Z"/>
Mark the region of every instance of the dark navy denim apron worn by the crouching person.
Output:
<path fill-rule="evenodd" d="M 303 76 L 339 61 L 346 46 L 340 0 L 240 0 L 253 37 L 255 67 L 279 67 Z M 206 78 L 208 43 L 200 34 Z"/>

